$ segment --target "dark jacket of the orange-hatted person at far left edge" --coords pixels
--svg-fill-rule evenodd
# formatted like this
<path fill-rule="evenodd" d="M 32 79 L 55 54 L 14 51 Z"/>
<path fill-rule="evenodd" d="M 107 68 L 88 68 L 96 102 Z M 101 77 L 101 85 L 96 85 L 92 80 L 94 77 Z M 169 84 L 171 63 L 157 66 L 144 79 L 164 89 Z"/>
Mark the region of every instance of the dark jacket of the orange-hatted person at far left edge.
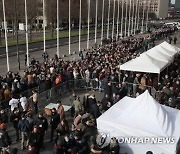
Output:
<path fill-rule="evenodd" d="M 6 130 L 0 130 L 0 147 L 8 147 L 11 143 L 8 132 Z"/>

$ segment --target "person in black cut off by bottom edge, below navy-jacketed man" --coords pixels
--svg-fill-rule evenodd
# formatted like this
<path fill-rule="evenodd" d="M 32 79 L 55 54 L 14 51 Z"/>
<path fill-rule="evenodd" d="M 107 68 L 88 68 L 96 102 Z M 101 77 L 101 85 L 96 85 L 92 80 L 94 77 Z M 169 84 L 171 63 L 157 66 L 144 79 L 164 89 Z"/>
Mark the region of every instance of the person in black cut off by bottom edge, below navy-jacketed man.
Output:
<path fill-rule="evenodd" d="M 39 131 L 39 127 L 35 125 L 33 127 L 33 131 L 30 133 L 29 136 L 29 150 L 28 154 L 39 154 L 41 148 L 41 134 Z"/>

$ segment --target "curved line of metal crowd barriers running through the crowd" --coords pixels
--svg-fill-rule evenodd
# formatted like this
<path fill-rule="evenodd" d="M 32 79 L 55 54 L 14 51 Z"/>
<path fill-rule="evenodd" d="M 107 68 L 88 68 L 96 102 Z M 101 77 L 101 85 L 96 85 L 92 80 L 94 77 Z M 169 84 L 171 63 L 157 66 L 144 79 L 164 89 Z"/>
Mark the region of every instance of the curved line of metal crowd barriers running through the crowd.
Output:
<path fill-rule="evenodd" d="M 142 93 L 144 90 L 148 89 L 150 94 L 157 99 L 159 92 L 156 91 L 154 87 L 151 86 L 142 86 L 139 84 L 133 83 L 119 83 L 119 82 L 109 82 L 111 83 L 111 91 L 115 92 L 114 89 L 120 85 L 121 88 L 125 88 L 127 90 L 128 96 L 136 97 L 137 93 Z M 32 100 L 29 98 L 32 96 L 32 90 L 37 89 L 38 91 L 38 103 L 44 106 L 44 102 L 52 99 L 59 99 L 64 94 L 68 94 L 69 96 L 75 90 L 99 90 L 104 91 L 106 93 L 108 83 L 104 83 L 103 81 L 99 81 L 97 79 L 78 79 L 78 80 L 69 80 L 60 83 L 57 86 L 52 87 L 51 89 L 46 90 L 45 83 L 40 84 L 38 87 L 34 87 L 25 92 L 22 92 L 26 98 L 28 98 L 28 102 L 32 105 Z M 9 100 L 1 101 L 1 105 L 5 108 L 9 108 Z"/>

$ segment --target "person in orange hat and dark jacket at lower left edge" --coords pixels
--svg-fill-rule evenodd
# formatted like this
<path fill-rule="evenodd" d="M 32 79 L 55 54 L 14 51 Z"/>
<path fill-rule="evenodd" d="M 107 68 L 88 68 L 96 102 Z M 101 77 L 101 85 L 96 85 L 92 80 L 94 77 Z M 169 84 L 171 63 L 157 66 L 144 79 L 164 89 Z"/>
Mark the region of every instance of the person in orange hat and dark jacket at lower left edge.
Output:
<path fill-rule="evenodd" d="M 0 148 L 2 153 L 7 152 L 9 145 L 12 143 L 6 129 L 7 125 L 5 123 L 0 124 Z"/>

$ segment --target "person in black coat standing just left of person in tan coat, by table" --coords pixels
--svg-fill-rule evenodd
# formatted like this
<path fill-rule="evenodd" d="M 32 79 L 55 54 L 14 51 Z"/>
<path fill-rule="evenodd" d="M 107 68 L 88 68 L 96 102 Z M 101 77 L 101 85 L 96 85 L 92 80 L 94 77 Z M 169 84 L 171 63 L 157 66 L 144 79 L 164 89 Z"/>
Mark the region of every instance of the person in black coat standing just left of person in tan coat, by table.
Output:
<path fill-rule="evenodd" d="M 50 125 L 51 125 L 51 140 L 50 142 L 53 141 L 53 137 L 54 137 L 54 131 L 57 128 L 57 125 L 60 123 L 60 116 L 57 113 L 56 109 L 53 108 L 52 112 L 51 112 L 51 120 L 50 120 Z"/>

